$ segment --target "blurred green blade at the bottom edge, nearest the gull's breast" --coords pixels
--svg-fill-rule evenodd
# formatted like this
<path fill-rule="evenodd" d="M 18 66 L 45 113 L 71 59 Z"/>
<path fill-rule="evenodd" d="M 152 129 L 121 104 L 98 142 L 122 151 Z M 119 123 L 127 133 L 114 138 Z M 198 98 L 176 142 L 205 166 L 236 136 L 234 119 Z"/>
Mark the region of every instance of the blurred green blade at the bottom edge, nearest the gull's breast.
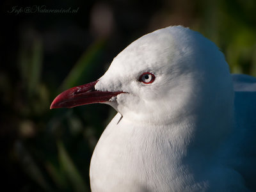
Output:
<path fill-rule="evenodd" d="M 61 141 L 58 141 L 57 145 L 61 167 L 63 168 L 70 182 L 72 182 L 74 191 L 89 191 L 84 184 L 83 178 L 77 171 L 76 166 L 72 162 L 70 156 L 68 156 L 68 153 L 65 150 L 63 143 L 61 143 Z"/>

